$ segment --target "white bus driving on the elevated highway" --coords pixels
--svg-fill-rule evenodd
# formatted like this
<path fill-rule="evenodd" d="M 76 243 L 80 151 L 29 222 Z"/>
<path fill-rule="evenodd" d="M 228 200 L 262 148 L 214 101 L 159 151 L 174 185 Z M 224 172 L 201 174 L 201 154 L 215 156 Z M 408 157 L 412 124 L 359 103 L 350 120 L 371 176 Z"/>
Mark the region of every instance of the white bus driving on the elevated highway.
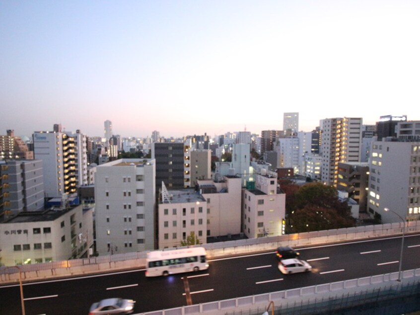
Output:
<path fill-rule="evenodd" d="M 167 276 L 173 273 L 206 270 L 209 263 L 204 247 L 175 250 L 156 250 L 147 253 L 146 277 Z"/>

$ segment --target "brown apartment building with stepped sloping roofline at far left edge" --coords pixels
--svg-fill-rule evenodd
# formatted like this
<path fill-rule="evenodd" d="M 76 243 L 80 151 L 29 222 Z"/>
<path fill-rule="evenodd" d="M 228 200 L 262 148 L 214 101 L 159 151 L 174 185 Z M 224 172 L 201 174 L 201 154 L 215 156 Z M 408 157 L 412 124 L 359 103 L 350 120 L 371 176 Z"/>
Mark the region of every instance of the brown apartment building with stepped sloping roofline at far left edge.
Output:
<path fill-rule="evenodd" d="M 7 130 L 5 136 L 0 136 L 0 160 L 33 158 L 33 151 L 29 151 L 28 146 L 14 135 L 13 130 Z"/>

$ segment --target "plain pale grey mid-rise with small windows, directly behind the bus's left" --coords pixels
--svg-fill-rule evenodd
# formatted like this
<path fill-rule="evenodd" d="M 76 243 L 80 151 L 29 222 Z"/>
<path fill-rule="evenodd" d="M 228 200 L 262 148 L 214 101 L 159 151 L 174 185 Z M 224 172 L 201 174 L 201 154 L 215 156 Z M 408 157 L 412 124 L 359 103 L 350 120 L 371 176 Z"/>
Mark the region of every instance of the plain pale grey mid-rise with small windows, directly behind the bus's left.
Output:
<path fill-rule="evenodd" d="M 155 187 L 153 159 L 123 158 L 96 167 L 99 255 L 154 249 Z"/>

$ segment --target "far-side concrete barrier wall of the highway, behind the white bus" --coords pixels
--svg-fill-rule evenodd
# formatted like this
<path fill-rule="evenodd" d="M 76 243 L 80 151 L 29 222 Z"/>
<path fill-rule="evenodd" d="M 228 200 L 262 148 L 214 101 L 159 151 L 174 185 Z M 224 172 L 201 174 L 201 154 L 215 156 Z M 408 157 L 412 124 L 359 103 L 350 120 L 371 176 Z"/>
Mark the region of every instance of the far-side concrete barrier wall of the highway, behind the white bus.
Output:
<path fill-rule="evenodd" d="M 275 250 L 278 246 L 294 247 L 315 246 L 320 244 L 342 242 L 380 236 L 401 235 L 403 223 L 392 223 L 374 226 L 364 226 L 348 229 L 288 234 L 282 236 L 241 239 L 208 243 L 206 247 L 209 260 L 240 254 L 250 254 Z M 420 221 L 407 222 L 405 233 L 419 233 Z M 19 271 L 22 281 L 44 280 L 48 278 L 68 277 L 104 272 L 113 272 L 145 267 L 147 252 L 131 252 L 98 256 L 82 259 L 57 261 L 33 265 L 0 267 L 0 285 L 19 281 Z"/>

